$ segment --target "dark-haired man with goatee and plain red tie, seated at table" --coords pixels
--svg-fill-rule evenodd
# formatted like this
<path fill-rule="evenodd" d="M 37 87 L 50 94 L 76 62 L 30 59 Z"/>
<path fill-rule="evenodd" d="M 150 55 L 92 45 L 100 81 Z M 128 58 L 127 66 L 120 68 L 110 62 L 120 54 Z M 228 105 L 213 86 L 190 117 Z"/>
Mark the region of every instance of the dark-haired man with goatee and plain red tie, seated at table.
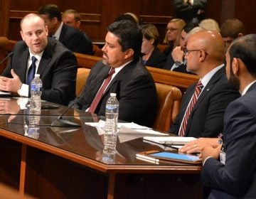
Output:
<path fill-rule="evenodd" d="M 107 99 L 115 92 L 119 119 L 151 127 L 156 116 L 157 94 L 153 78 L 139 59 L 141 29 L 131 21 L 116 21 L 107 28 L 105 41 L 103 58 L 90 71 L 76 107 L 105 115 Z"/>

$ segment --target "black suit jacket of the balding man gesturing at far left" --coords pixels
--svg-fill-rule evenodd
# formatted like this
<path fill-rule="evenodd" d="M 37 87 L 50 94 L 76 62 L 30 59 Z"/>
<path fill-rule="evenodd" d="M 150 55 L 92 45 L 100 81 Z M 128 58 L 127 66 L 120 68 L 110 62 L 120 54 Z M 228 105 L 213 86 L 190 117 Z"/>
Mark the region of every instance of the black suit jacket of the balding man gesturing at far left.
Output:
<path fill-rule="evenodd" d="M 18 41 L 14 46 L 11 63 L 2 75 L 12 77 L 11 69 L 14 69 L 21 82 L 25 84 L 28 57 L 28 46 L 24 41 Z M 48 45 L 43 51 L 37 71 L 43 81 L 41 98 L 48 102 L 67 105 L 75 98 L 77 68 L 75 55 L 60 42 L 48 38 Z"/>

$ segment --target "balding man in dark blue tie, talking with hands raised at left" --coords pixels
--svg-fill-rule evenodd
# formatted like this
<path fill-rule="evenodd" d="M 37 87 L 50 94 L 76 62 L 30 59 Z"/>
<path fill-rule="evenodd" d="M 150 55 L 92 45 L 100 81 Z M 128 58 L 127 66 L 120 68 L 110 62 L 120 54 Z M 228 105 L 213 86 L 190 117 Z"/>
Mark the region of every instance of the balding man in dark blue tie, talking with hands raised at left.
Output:
<path fill-rule="evenodd" d="M 2 73 L 4 77 L 0 77 L 0 90 L 28 97 L 27 75 L 31 68 L 33 75 L 40 74 L 43 81 L 41 98 L 67 105 L 75 98 L 75 55 L 62 43 L 48 38 L 48 28 L 37 14 L 28 14 L 21 20 L 21 37 L 23 41 L 14 46 L 11 63 Z"/>

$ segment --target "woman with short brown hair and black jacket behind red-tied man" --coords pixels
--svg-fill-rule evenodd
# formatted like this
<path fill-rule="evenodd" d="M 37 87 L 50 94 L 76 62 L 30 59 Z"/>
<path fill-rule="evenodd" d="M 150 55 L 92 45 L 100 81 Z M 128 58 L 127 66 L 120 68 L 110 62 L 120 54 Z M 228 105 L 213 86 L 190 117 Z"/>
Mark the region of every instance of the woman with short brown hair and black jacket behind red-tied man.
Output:
<path fill-rule="evenodd" d="M 156 47 L 159 43 L 159 32 L 153 24 L 142 26 L 142 61 L 144 65 L 164 68 L 166 56 Z"/>

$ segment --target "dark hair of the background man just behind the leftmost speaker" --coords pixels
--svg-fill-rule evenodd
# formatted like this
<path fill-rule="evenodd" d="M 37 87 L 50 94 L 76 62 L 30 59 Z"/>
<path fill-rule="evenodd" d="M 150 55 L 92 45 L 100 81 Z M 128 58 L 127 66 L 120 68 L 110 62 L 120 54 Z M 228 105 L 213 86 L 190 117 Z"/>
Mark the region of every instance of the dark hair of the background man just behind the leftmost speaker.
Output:
<path fill-rule="evenodd" d="M 41 6 L 38 10 L 38 14 L 45 14 L 50 19 L 56 17 L 58 18 L 58 21 L 62 21 L 60 9 L 55 4 L 46 4 L 45 6 Z"/>

